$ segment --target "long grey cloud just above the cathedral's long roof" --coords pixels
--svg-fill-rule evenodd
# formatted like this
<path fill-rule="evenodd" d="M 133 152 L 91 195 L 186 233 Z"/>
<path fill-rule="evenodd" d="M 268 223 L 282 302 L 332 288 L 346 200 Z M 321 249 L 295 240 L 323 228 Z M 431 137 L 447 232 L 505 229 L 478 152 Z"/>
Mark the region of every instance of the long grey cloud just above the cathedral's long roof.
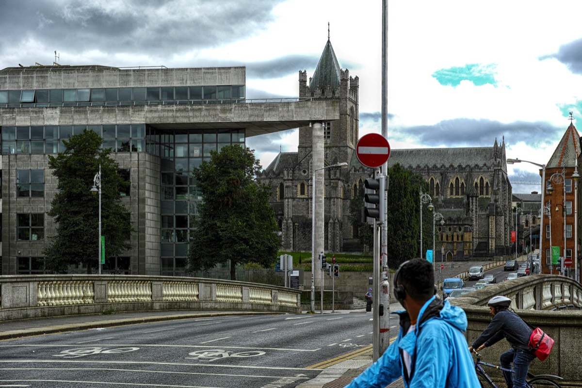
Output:
<path fill-rule="evenodd" d="M 514 143 L 528 140 L 532 147 L 553 141 L 557 133 L 564 129 L 548 123 L 514 122 L 509 124 L 492 120 L 453 119 L 432 126 L 405 127 L 398 130 L 397 136 L 414 136 L 420 143 L 429 147 L 447 145 L 448 147 L 482 147 L 490 145 L 493 138 L 501 142 L 512 139 Z"/>

